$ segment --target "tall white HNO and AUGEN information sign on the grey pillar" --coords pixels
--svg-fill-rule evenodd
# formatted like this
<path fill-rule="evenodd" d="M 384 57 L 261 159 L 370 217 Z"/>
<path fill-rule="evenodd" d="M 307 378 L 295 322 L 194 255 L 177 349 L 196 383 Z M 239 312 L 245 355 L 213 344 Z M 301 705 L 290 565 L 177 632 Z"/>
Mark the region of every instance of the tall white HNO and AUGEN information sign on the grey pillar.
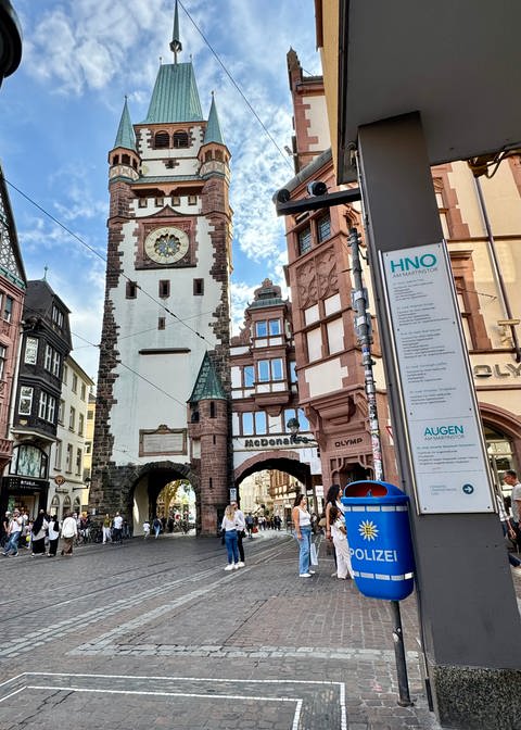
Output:
<path fill-rule="evenodd" d="M 445 243 L 382 253 L 420 513 L 494 512 Z"/>

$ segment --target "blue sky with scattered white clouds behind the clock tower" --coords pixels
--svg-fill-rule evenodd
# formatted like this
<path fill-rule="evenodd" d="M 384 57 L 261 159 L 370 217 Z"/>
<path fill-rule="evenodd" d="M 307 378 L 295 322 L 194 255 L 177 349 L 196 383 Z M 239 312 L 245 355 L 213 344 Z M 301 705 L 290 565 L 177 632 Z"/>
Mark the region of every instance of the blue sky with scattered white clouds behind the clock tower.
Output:
<path fill-rule="evenodd" d="M 160 64 L 171 62 L 174 0 L 13 0 L 22 63 L 0 90 L 0 159 L 29 279 L 47 278 L 72 311 L 73 356 L 96 379 L 106 250 L 107 152 L 124 97 L 134 123 L 147 113 Z M 283 223 L 271 196 L 292 177 L 185 12 L 283 150 L 292 136 L 285 54 L 320 73 L 313 0 L 181 0 L 181 61 L 190 55 L 207 116 L 215 91 L 232 154 L 232 310 L 237 331 L 253 290 L 283 282 Z M 34 200 L 74 236 L 28 202 Z M 92 249 L 89 250 L 89 248 Z M 85 341 L 87 340 L 87 342 Z"/>

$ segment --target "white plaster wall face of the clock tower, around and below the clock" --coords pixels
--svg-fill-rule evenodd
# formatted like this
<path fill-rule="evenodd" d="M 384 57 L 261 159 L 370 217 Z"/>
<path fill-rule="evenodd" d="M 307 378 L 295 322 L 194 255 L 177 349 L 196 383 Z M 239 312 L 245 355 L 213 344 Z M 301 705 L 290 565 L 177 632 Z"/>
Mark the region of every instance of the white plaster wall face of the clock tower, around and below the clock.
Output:
<path fill-rule="evenodd" d="M 193 212 L 193 206 L 190 210 Z M 136 299 L 126 299 L 124 278 L 117 290 L 112 291 L 114 317 L 119 325 L 116 348 L 123 363 L 117 368 L 118 377 L 114 385 L 116 403 L 111 414 L 111 431 L 115 437 L 114 461 L 118 465 L 150 461 L 150 457 L 138 456 L 140 429 L 154 429 L 162 424 L 168 428 L 186 428 L 186 402 L 204 352 L 215 347 L 215 337 L 209 328 L 211 313 L 220 301 L 220 285 L 208 275 L 213 250 L 208 243 L 208 224 L 205 219 L 198 221 L 198 263 L 195 267 L 189 268 L 135 270 L 135 223 L 125 224 L 123 230 L 124 272 L 130 279 L 137 280 L 150 297 L 138 290 Z M 193 295 L 194 278 L 204 278 L 202 297 Z M 170 281 L 170 297 L 164 300 L 157 295 L 161 279 Z M 202 340 L 167 314 L 162 304 L 175 312 L 179 319 L 187 320 L 192 329 L 206 339 Z M 160 316 L 166 318 L 164 330 L 157 329 Z M 141 349 L 165 348 L 188 348 L 190 352 L 139 354 Z"/>

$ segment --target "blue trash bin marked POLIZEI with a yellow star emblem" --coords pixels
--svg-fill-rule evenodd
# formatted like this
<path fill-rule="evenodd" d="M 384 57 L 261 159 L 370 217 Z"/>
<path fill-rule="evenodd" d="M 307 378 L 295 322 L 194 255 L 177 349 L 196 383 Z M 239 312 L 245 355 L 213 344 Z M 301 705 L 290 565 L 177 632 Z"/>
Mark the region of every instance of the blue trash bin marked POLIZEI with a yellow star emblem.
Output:
<path fill-rule="evenodd" d="M 355 582 L 364 595 L 402 601 L 415 584 L 409 498 L 385 481 L 353 481 L 344 490 Z"/>

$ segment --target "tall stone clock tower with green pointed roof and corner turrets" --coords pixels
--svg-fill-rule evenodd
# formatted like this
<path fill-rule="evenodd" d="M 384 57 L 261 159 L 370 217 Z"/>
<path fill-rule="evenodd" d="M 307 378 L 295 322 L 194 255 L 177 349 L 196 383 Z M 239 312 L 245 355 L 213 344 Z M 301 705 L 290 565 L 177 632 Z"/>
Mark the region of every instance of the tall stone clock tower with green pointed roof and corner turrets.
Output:
<path fill-rule="evenodd" d="M 132 125 L 125 100 L 109 153 L 109 246 L 90 507 L 98 515 L 123 511 L 139 531 L 143 518 L 153 515 L 162 489 L 183 478 L 195 490 L 199 531 L 211 533 L 226 488 L 215 490 L 215 477 L 209 480 L 204 471 L 209 464 L 205 449 L 215 453 L 214 439 L 206 438 L 207 429 L 205 438 L 193 425 L 190 430 L 187 413 L 191 420 L 196 383 L 202 370 L 211 368 L 218 398 L 202 403 L 199 413 L 206 405 L 208 418 L 211 407 L 218 411 L 208 428 L 218 423 L 219 439 L 225 440 L 226 481 L 231 473 L 226 446 L 230 153 L 215 99 L 205 119 L 192 63 L 178 62 L 182 46 L 177 3 L 170 49 L 174 63 L 160 66 L 144 122 Z M 215 390 L 209 394 L 216 395 Z"/>

